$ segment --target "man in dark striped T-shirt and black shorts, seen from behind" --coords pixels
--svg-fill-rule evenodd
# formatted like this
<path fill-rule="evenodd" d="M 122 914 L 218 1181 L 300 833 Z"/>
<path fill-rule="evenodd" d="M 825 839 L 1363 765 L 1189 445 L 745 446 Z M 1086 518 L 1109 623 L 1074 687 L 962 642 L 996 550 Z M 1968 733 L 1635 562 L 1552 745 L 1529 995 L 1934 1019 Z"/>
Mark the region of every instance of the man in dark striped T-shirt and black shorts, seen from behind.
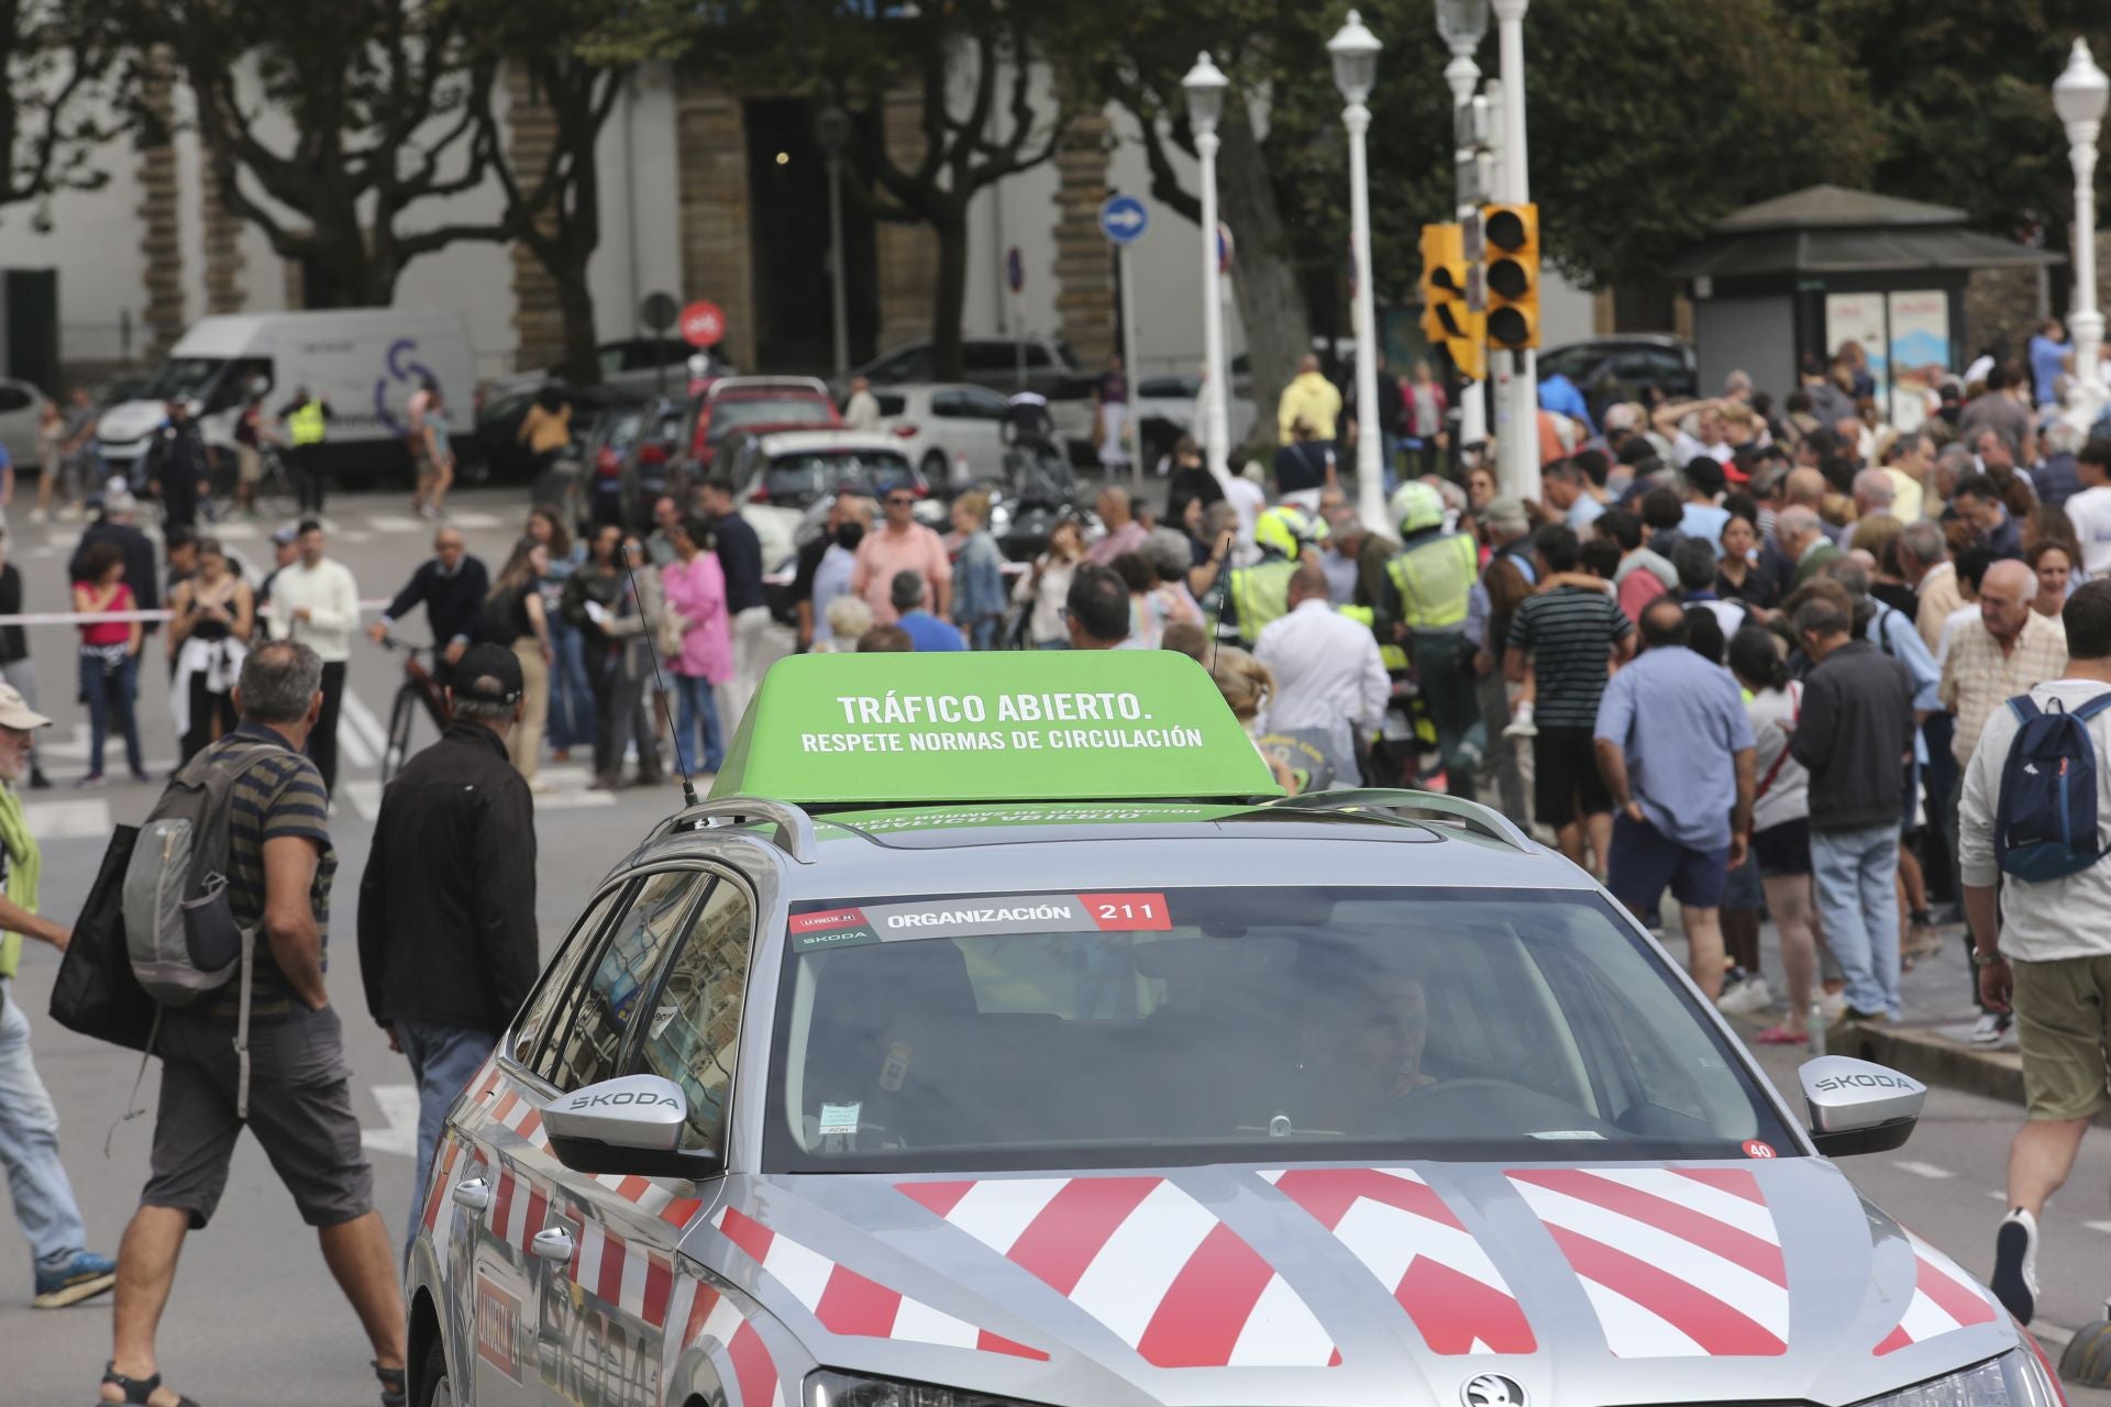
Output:
<path fill-rule="evenodd" d="M 1511 618 L 1505 662 L 1511 679 L 1522 681 L 1530 656 L 1537 683 L 1533 816 L 1554 827 L 1562 854 L 1577 865 L 1583 863 L 1587 829 L 1602 865 L 1613 842 L 1613 793 L 1598 776 L 1592 730 L 1611 662 L 1634 654 L 1634 622 L 1604 582 L 1562 576 L 1577 570 L 1579 553 L 1566 523 L 1547 523 L 1533 534 L 1533 557 L 1545 586 L 1526 597 Z"/>

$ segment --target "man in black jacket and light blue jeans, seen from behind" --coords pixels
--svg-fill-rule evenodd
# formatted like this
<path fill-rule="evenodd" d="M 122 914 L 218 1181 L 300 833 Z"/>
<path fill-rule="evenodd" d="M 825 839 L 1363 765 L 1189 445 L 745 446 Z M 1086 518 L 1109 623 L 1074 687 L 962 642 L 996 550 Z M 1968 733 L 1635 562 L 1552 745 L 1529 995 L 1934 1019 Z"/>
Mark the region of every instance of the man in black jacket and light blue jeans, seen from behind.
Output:
<path fill-rule="evenodd" d="M 1818 662 L 1788 751 L 1811 774 L 1811 875 L 1826 947 L 1847 975 L 1849 1019 L 1896 1019 L 1898 812 L 1913 751 L 1913 675 L 1866 639 L 1837 601 L 1796 612 Z"/>

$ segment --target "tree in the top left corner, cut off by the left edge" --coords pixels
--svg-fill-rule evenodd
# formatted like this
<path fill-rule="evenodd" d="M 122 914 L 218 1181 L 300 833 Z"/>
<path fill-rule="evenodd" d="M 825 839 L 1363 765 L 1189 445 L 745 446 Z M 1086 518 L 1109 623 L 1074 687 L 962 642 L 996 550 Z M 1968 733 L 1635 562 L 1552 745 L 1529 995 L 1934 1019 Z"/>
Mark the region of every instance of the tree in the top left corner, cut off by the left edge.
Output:
<path fill-rule="evenodd" d="M 116 137 L 120 38 L 99 15 L 63 0 L 0 0 L 0 207 L 95 190 L 108 175 L 95 150 Z M 40 215 L 42 219 L 42 215 Z"/>

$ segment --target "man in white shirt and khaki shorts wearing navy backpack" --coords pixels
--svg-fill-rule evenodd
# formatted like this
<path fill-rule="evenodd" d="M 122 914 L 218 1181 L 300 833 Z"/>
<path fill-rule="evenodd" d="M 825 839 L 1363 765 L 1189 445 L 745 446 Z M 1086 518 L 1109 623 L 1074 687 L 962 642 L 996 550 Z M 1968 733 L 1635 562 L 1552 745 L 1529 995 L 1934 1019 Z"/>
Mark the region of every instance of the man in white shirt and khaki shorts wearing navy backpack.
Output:
<path fill-rule="evenodd" d="M 1989 1287 L 2037 1310 L 2037 1217 L 2111 1103 L 2111 580 L 2060 612 L 2067 669 L 1986 719 L 1965 768 L 1957 871 L 1980 998 L 2016 1013 L 2027 1122 L 2008 1152 L 2008 1217 Z M 1999 897 L 1999 905 L 1997 905 Z"/>

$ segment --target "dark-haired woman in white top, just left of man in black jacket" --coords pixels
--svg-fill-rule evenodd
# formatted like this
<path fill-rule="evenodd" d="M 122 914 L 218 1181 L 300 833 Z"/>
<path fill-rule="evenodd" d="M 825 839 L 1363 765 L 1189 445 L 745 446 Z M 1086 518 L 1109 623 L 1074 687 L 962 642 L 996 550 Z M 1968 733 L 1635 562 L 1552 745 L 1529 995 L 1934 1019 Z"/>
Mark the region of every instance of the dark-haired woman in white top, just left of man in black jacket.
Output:
<path fill-rule="evenodd" d="M 1771 631 L 1746 627 L 1729 641 L 1729 669 L 1750 702 L 1754 768 L 1752 856 L 1767 890 L 1767 911 L 1782 932 L 1782 981 L 1788 1015 L 1758 1034 L 1767 1046 L 1801 1046 L 1818 972 L 1818 907 L 1811 901 L 1811 774 L 1788 753 L 1788 732 L 1803 709 L 1803 686 Z"/>

